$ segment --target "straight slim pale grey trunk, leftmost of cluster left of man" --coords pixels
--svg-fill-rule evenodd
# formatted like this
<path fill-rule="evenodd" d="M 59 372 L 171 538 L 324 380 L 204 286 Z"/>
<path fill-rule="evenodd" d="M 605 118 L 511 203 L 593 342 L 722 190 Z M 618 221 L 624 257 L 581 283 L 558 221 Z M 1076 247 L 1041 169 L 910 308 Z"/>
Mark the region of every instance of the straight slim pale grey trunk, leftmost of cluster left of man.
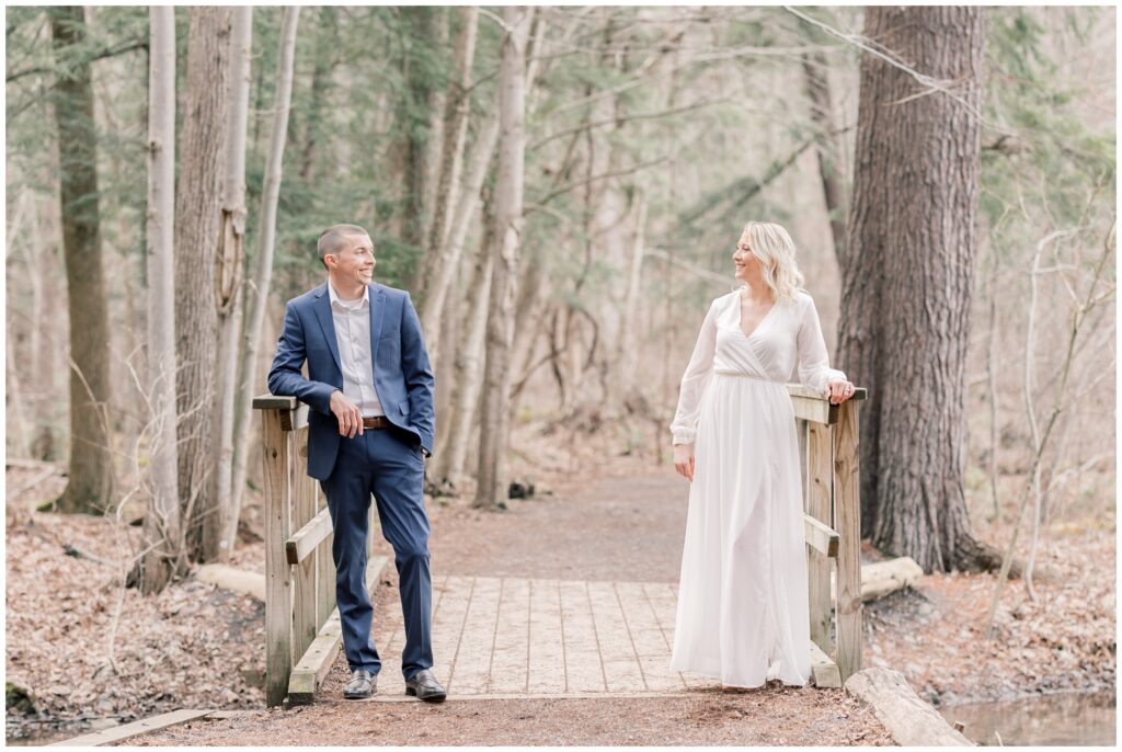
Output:
<path fill-rule="evenodd" d="M 151 507 L 145 516 L 141 593 L 158 593 L 185 563 L 175 444 L 175 9 L 149 9 L 148 401 Z M 139 577 L 136 577 L 139 575 Z"/>

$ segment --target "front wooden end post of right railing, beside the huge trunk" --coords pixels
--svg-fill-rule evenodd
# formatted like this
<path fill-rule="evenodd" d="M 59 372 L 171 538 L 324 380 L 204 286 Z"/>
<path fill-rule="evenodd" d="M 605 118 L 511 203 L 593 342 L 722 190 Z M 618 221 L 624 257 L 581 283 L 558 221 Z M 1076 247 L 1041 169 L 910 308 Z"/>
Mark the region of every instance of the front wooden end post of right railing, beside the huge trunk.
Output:
<path fill-rule="evenodd" d="M 837 664 L 842 681 L 862 668 L 861 424 L 856 401 L 842 403 L 834 427 L 834 521 L 838 541 Z"/>

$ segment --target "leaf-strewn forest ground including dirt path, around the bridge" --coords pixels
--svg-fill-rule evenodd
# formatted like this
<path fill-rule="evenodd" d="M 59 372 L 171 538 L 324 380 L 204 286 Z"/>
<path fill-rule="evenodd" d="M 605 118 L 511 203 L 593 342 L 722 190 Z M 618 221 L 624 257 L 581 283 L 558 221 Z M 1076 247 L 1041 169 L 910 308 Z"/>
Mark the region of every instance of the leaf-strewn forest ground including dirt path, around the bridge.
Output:
<path fill-rule="evenodd" d="M 537 493 L 497 514 L 472 510 L 468 493 L 430 503 L 434 572 L 677 581 L 688 485 L 672 468 L 592 442 L 558 449 L 549 437 L 533 434 L 517 446 L 522 455 L 513 470 L 532 473 Z M 8 488 L 19 490 L 37 473 L 9 467 Z M 120 587 L 110 563 L 67 556 L 64 545 L 117 561 L 137 544 L 139 529 L 26 511 L 62 483 L 47 478 L 8 498 L 9 739 L 46 728 L 66 737 L 172 709 L 211 707 L 245 713 L 174 726 L 136 743 L 891 743 L 867 708 L 840 690 L 775 682 L 744 694 L 679 697 L 344 703 L 341 657 L 321 703 L 265 709 L 263 604 L 191 578 L 145 599 Z M 916 588 L 865 604 L 865 666 L 902 671 L 935 705 L 1113 689 L 1113 499 L 1080 498 L 1056 514 L 1041 541 L 1037 603 L 1022 581 L 1009 583 L 993 640 L 985 636 L 985 615 L 995 576 L 929 575 Z M 973 516 L 983 539 L 1008 541 L 1009 523 L 996 529 L 981 512 Z M 1003 517 L 1012 519 L 1012 510 Z M 863 558 L 881 557 L 866 547 Z M 260 570 L 263 560 L 259 541 L 243 542 L 233 563 Z M 396 598 L 395 583 L 390 567 L 378 588 L 379 605 Z M 21 688 L 15 696 L 13 685 Z M 19 691 L 26 691 L 24 703 Z M 640 715 L 643 722 L 635 724 Z"/>

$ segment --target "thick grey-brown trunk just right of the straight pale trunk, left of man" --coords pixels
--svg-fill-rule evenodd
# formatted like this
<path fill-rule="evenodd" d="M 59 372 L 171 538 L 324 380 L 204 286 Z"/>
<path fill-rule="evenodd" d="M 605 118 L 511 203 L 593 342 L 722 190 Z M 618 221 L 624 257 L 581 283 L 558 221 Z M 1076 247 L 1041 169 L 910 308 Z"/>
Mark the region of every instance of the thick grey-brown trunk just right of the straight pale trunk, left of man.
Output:
<path fill-rule="evenodd" d="M 175 322 L 178 357 L 180 494 L 187 545 L 205 560 L 204 526 L 213 524 L 218 356 L 218 245 L 227 156 L 227 82 L 231 11 L 194 7 L 187 34 L 186 111 L 175 205 Z"/>

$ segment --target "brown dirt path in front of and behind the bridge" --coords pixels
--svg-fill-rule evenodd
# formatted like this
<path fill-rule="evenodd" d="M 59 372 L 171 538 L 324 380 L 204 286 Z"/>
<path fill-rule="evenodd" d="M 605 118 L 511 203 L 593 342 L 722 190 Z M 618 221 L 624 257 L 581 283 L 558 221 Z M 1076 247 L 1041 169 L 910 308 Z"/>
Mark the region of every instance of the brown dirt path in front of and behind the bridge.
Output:
<path fill-rule="evenodd" d="M 640 479 L 555 484 L 554 494 L 511 502 L 505 513 L 479 513 L 465 502 L 434 508 L 434 576 L 677 580 L 686 515 L 683 480 L 662 469 Z M 396 577 L 387 572 L 379 584 L 376 614 L 389 613 L 395 598 Z M 842 690 L 792 689 L 778 682 L 735 695 L 690 690 L 637 698 L 450 699 L 427 706 L 342 701 L 346 679 L 340 657 L 314 706 L 246 712 L 132 743 L 891 744 L 875 718 Z"/>

